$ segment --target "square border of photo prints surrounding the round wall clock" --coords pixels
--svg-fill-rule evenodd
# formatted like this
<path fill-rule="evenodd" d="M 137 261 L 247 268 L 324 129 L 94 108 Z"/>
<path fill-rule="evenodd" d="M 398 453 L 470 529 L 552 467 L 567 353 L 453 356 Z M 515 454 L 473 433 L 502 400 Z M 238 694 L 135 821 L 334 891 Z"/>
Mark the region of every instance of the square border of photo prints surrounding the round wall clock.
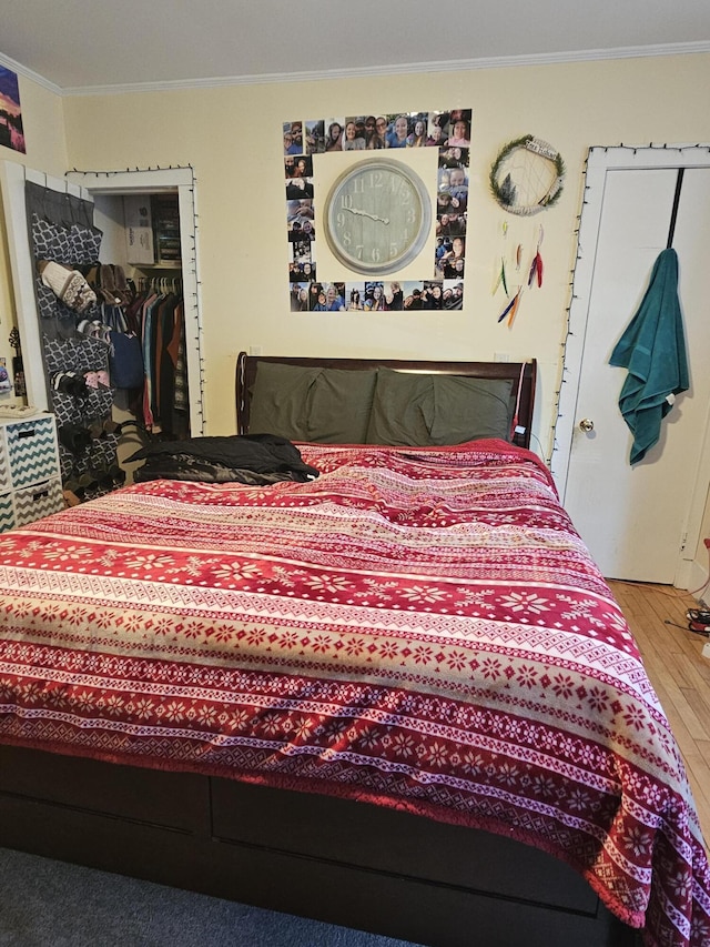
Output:
<path fill-rule="evenodd" d="M 462 309 L 471 119 L 471 109 L 454 109 L 284 122 L 292 312 Z M 430 182 L 432 191 L 436 190 L 436 246 L 429 278 L 329 282 L 317 265 L 320 222 L 313 155 L 390 148 L 438 149 L 437 180 Z"/>

